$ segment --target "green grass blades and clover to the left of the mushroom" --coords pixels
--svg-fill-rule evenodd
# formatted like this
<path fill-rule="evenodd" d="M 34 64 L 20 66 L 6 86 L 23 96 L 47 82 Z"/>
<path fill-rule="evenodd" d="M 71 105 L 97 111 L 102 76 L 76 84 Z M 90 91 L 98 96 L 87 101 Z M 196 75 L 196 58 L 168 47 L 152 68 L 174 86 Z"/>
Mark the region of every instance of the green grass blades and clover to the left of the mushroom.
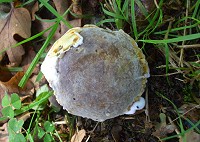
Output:
<path fill-rule="evenodd" d="M 8 1 L 6 1 L 8 2 Z M 26 4 L 30 3 L 30 1 L 27 1 Z M 9 48 L 16 48 L 17 46 L 24 44 L 26 42 L 30 42 L 31 40 L 34 40 L 40 36 L 42 36 L 45 32 L 50 30 L 49 36 L 46 38 L 43 46 L 41 47 L 41 49 L 39 50 L 39 52 L 37 53 L 37 55 L 35 56 L 34 60 L 32 61 L 32 63 L 30 64 L 28 70 L 26 71 L 24 77 L 21 79 L 19 86 L 20 87 L 24 87 L 24 85 L 26 84 L 26 82 L 28 81 L 30 75 L 33 72 L 33 69 L 35 68 L 35 66 L 38 64 L 39 60 L 41 59 L 41 56 L 43 55 L 46 47 L 50 44 L 52 37 L 54 36 L 59 23 L 62 21 L 67 27 L 71 28 L 72 26 L 66 21 L 64 20 L 64 16 L 66 16 L 67 13 L 69 13 L 69 9 L 63 14 L 60 15 L 59 13 L 57 13 L 57 11 L 50 5 L 47 3 L 47 1 L 44 0 L 40 0 L 40 3 L 42 4 L 42 6 L 45 6 L 49 11 L 51 11 L 57 18 L 54 20 L 50 20 L 50 21 L 46 21 L 46 22 L 55 22 L 55 24 L 49 28 L 47 28 L 46 30 L 33 35 L 32 37 L 25 39 L 19 43 L 17 43 L 16 45 L 13 45 L 12 47 Z M 24 6 L 24 5 L 23 5 Z M 39 19 L 39 18 L 38 18 Z M 8 50 L 9 48 L 5 48 L 5 50 L 1 51 L 0 53 L 5 52 L 6 50 Z M 20 68 L 19 68 L 20 69 Z M 18 68 L 9 68 L 9 70 L 11 71 L 19 71 Z M 21 70 L 21 69 L 20 69 Z M 42 74 L 38 74 L 37 77 L 37 81 L 39 81 L 42 77 Z M 52 124 L 52 122 L 50 121 L 46 121 L 44 120 L 44 128 L 42 128 L 41 126 L 39 126 L 39 123 L 41 123 L 41 112 L 43 111 L 44 108 L 46 108 L 47 106 L 47 102 L 49 97 L 53 94 L 53 92 L 51 91 L 45 91 L 42 92 L 41 94 L 39 94 L 39 96 L 29 105 L 18 105 L 17 108 L 16 106 L 14 107 L 14 103 L 12 102 L 12 96 L 15 95 L 17 96 L 17 99 L 15 99 L 18 102 L 21 101 L 18 97 L 17 94 L 13 94 L 11 95 L 11 99 L 8 97 L 8 95 L 5 95 L 4 98 L 2 99 L 2 103 L 3 103 L 3 109 L 2 109 L 2 113 L 3 116 L 0 118 L 0 121 L 9 119 L 8 121 L 8 132 L 9 132 L 9 140 L 10 141 L 15 141 L 15 140 L 19 140 L 19 141 L 34 141 L 34 135 L 37 135 L 39 139 L 43 138 L 44 141 L 55 141 L 54 137 L 56 137 L 59 141 L 62 141 L 60 136 L 58 135 L 57 130 L 55 130 L 54 125 Z M 10 102 L 11 100 L 11 102 Z M 10 104 L 11 103 L 11 104 Z M 43 106 L 42 110 L 39 110 L 39 108 L 41 108 L 41 105 Z M 28 111 L 34 110 L 34 115 L 31 118 L 31 123 L 28 126 L 28 129 L 25 130 L 23 129 L 23 124 L 24 121 L 23 120 L 16 120 L 16 116 L 19 116 L 23 113 L 27 113 Z M 35 119 L 35 115 L 37 115 L 37 118 Z M 48 114 L 50 115 L 50 114 Z M 35 122 L 33 122 L 33 120 Z M 70 122 L 70 121 L 69 121 Z M 71 127 L 71 126 L 70 126 Z M 32 129 L 34 130 L 34 134 L 32 134 Z M 24 135 L 21 133 L 21 130 L 25 130 Z M 72 134 L 71 134 L 72 135 Z"/>

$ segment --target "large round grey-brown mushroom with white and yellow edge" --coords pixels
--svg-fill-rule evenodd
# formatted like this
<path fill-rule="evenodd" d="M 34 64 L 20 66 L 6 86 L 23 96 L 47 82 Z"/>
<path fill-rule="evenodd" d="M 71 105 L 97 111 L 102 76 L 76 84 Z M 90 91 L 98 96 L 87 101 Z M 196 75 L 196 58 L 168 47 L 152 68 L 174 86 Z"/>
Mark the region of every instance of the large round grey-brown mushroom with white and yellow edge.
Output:
<path fill-rule="evenodd" d="M 102 122 L 145 105 L 148 64 L 123 30 L 72 28 L 53 44 L 41 71 L 58 103 L 77 116 Z"/>

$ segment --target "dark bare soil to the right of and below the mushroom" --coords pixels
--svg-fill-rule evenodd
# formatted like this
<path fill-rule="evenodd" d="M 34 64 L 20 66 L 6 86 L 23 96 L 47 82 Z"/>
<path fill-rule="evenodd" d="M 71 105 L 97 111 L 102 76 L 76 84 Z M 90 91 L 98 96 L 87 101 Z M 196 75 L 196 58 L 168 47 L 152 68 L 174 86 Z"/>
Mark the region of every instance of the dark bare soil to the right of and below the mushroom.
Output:
<path fill-rule="evenodd" d="M 93 12 L 97 15 L 96 17 L 102 15 L 98 5 L 96 7 L 92 5 L 92 7 Z M 86 12 L 88 12 L 87 10 L 85 9 Z M 89 13 L 93 12 L 90 11 Z M 179 108 L 184 103 L 184 88 L 187 88 L 189 84 L 178 80 L 178 78 L 183 78 L 181 74 L 164 76 L 166 68 L 157 68 L 166 64 L 166 59 L 159 49 L 147 45 L 144 53 L 146 54 L 151 74 L 145 92 L 148 95 L 143 94 L 144 97 L 148 97 L 148 108 L 146 109 L 149 114 L 147 115 L 145 111 L 139 111 L 135 115 L 119 116 L 103 123 L 81 118 L 80 120 L 83 124 L 81 127 L 89 132 L 88 135 L 91 136 L 89 141 L 157 142 L 159 139 L 153 133 L 156 131 L 155 126 L 160 123 L 160 113 L 165 113 L 172 120 L 177 117 L 173 105 L 159 94 L 168 98 Z M 170 72 L 173 72 L 173 70 L 169 70 Z M 167 121 L 167 124 L 169 124 L 169 121 Z M 170 135 L 174 134 L 171 133 Z M 173 142 L 178 141 L 178 139 L 174 138 L 168 141 Z"/>

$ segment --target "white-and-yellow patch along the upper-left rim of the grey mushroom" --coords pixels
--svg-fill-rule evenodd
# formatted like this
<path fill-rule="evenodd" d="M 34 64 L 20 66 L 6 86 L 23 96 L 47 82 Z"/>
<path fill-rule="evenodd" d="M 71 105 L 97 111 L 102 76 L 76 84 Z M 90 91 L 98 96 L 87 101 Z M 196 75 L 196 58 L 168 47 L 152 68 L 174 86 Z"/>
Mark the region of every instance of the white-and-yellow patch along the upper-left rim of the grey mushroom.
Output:
<path fill-rule="evenodd" d="M 60 39 L 58 39 L 48 52 L 44 62 L 41 65 L 41 71 L 53 88 L 53 84 L 58 81 L 57 62 L 64 53 L 71 47 L 77 48 L 83 44 L 83 37 L 79 34 L 79 27 L 68 30 Z"/>

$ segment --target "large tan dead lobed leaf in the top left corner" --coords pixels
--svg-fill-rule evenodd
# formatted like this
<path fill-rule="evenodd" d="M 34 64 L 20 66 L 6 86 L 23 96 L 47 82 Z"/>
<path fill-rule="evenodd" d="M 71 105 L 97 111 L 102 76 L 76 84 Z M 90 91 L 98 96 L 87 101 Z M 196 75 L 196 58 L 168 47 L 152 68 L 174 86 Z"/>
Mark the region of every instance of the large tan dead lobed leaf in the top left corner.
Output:
<path fill-rule="evenodd" d="M 3 9 L 4 10 L 4 9 Z M 5 11 L 3 11 L 5 12 Z M 10 7 L 6 16 L 0 18 L 0 51 L 5 50 L 17 43 L 14 35 L 28 38 L 31 35 L 31 17 L 27 9 Z M 24 49 L 20 45 L 6 51 L 8 58 L 14 66 L 21 63 Z"/>

